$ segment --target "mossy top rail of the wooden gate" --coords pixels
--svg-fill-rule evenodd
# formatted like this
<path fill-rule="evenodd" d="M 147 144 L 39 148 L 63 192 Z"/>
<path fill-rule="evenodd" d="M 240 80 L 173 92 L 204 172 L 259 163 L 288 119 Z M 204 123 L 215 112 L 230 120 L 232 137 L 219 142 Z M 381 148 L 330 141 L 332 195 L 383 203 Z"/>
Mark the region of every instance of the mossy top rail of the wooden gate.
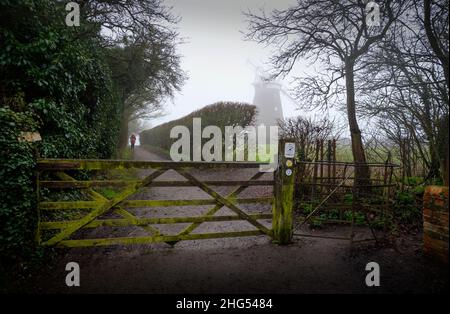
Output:
<path fill-rule="evenodd" d="M 138 161 L 110 159 L 38 159 L 39 170 L 111 170 L 111 169 L 211 169 L 211 168 L 259 168 L 263 162 L 250 161 Z"/>

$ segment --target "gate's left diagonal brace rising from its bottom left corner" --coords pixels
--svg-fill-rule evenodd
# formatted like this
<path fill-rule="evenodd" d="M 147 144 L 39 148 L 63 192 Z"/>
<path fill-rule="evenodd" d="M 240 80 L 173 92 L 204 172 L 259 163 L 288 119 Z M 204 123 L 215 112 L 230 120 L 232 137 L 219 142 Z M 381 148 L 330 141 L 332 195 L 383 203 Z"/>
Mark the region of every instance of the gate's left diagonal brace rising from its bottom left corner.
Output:
<path fill-rule="evenodd" d="M 108 202 L 105 202 L 102 206 L 97 208 L 96 210 L 90 212 L 86 216 L 84 216 L 82 219 L 78 220 L 78 222 L 70 225 L 66 229 L 64 229 L 62 232 L 58 233 L 57 235 L 53 236 L 49 240 L 43 243 L 43 245 L 55 245 L 56 243 L 68 238 L 71 236 L 74 232 L 79 230 L 80 228 L 84 227 L 91 221 L 93 221 L 98 216 L 104 214 L 111 208 L 119 205 L 121 202 L 123 202 L 126 198 L 131 196 L 132 194 L 136 193 L 140 188 L 149 185 L 155 178 L 159 177 L 161 174 L 163 174 L 165 170 L 156 170 L 152 174 L 145 177 L 141 182 L 137 184 L 133 184 L 131 186 L 128 186 L 125 191 L 123 191 L 118 196 L 114 197 L 113 199 L 109 200 Z"/>

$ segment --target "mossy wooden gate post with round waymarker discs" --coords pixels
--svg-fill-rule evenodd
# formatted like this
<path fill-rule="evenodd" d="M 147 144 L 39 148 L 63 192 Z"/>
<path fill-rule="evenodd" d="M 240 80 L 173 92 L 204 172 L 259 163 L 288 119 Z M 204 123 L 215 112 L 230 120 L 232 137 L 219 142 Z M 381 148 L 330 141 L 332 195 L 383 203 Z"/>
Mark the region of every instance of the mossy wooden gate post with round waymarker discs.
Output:
<path fill-rule="evenodd" d="M 295 171 L 295 142 L 282 139 L 278 143 L 278 167 L 275 172 L 275 202 L 272 218 L 273 237 L 278 244 L 292 242 Z"/>

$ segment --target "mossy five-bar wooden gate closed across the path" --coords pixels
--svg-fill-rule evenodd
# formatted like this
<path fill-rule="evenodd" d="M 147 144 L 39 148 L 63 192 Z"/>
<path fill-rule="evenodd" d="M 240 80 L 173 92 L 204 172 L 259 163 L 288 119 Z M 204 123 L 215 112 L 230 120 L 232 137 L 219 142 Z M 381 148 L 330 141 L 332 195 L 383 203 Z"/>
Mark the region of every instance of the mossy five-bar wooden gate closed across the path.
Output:
<path fill-rule="evenodd" d="M 264 172 L 257 172 L 250 180 L 245 181 L 203 181 L 201 182 L 189 169 L 203 168 L 258 168 L 261 163 L 254 162 L 172 162 L 172 161 L 125 161 L 125 160 L 68 160 L 68 159 L 39 159 L 37 168 L 37 195 L 39 223 L 37 240 L 44 246 L 56 247 L 86 247 L 114 244 L 142 244 L 166 242 L 175 244 L 182 240 L 199 240 L 226 237 L 243 237 L 265 234 L 272 237 L 279 244 L 289 243 L 292 238 L 292 191 L 293 181 L 283 184 L 280 179 L 281 169 L 275 172 L 272 180 L 258 180 Z M 153 169 L 154 171 L 142 180 L 91 180 L 78 181 L 65 171 L 71 173 L 76 170 L 112 170 L 112 169 Z M 181 174 L 186 181 L 155 181 L 157 177 L 172 169 Z M 44 172 L 51 172 L 56 181 L 41 180 Z M 292 176 L 293 177 L 293 176 Z M 279 179 L 277 179 L 279 178 Z M 274 185 L 274 194 L 278 196 L 238 199 L 237 196 L 248 186 Z M 113 198 L 106 198 L 95 191 L 96 187 L 123 187 L 123 190 Z M 129 200 L 143 187 L 152 186 L 196 186 L 209 194 L 210 199 L 183 200 Z M 210 186 L 237 187 L 230 194 L 221 196 Z M 84 189 L 91 198 L 88 201 L 42 201 L 42 189 Z M 271 214 L 247 214 L 238 206 L 243 203 L 272 204 Z M 133 207 L 165 207 L 187 205 L 214 205 L 205 214 L 195 217 L 163 217 L 140 218 L 128 209 Z M 227 207 L 236 215 L 215 215 L 222 207 Z M 44 211 L 55 210 L 88 210 L 82 218 L 74 220 L 44 221 Z M 101 219 L 110 212 L 121 218 Z M 267 228 L 258 220 L 272 219 L 272 228 Z M 252 224 L 255 230 L 234 231 L 220 233 L 192 233 L 201 223 L 212 221 L 245 220 Z M 189 226 L 176 235 L 164 235 L 152 224 L 189 223 Z M 100 226 L 124 227 L 140 226 L 148 232 L 148 236 L 141 237 L 107 237 L 95 239 L 71 239 L 78 230 L 96 228 Z M 43 240 L 42 233 L 52 230 L 50 238 Z M 56 231 L 56 232 L 55 232 Z"/>

